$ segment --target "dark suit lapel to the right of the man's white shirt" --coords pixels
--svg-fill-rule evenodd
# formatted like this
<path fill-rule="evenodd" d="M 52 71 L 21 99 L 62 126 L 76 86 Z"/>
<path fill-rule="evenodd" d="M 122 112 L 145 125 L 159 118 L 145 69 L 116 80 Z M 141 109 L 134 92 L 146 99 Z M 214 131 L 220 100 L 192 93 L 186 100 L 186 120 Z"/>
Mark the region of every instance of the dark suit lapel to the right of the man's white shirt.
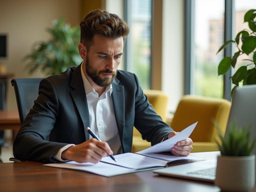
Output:
<path fill-rule="evenodd" d="M 123 146 L 123 132 L 124 132 L 124 86 L 118 85 L 119 80 L 115 78 L 112 83 L 112 100 L 115 112 L 116 125 Z M 124 152 L 124 147 L 123 147 Z"/>

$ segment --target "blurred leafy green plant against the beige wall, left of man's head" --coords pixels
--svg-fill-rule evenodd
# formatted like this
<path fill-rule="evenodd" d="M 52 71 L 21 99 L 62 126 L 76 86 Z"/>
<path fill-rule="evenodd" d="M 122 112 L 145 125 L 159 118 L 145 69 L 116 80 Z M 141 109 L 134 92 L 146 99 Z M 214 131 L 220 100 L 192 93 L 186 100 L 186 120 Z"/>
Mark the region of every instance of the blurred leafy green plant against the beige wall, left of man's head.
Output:
<path fill-rule="evenodd" d="M 79 27 L 70 27 L 63 18 L 53 20 L 52 25 L 53 28 L 47 29 L 51 34 L 50 40 L 36 42 L 31 54 L 24 57 L 24 60 L 29 60 L 26 66 L 29 73 L 41 68 L 46 75 L 57 74 L 82 61 L 77 48 L 80 43 Z"/>

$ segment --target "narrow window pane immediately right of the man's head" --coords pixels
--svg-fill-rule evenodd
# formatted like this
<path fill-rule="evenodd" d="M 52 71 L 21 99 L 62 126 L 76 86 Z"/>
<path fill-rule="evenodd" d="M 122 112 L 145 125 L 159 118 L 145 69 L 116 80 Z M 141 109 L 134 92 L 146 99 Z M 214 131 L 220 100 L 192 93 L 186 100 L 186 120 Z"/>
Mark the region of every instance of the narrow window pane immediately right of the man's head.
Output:
<path fill-rule="evenodd" d="M 150 89 L 151 0 L 131 1 L 132 72 L 142 89 Z"/>

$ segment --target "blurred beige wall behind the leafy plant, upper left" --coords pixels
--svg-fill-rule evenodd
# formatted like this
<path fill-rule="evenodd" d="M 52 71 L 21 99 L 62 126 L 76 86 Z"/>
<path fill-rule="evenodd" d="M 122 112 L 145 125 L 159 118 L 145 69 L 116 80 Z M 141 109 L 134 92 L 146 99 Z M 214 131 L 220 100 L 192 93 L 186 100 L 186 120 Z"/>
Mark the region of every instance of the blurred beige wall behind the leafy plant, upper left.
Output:
<path fill-rule="evenodd" d="M 0 0 L 0 33 L 8 34 L 8 59 L 0 60 L 0 64 L 6 65 L 7 72 L 14 73 L 14 78 L 44 77 L 40 71 L 29 76 L 22 58 L 29 54 L 34 42 L 49 39 L 45 29 L 52 27 L 53 19 L 63 16 L 71 26 L 78 25 L 81 20 L 80 3 L 80 0 Z M 17 109 L 10 83 L 6 108 Z"/>

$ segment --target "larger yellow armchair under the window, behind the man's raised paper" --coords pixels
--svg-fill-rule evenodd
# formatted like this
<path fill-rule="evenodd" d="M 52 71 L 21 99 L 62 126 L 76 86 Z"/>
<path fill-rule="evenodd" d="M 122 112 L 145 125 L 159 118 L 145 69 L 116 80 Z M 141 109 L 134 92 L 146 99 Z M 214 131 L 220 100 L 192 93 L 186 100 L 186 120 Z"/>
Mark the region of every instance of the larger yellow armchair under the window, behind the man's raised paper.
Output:
<path fill-rule="evenodd" d="M 180 101 L 170 126 L 180 132 L 187 126 L 198 121 L 190 138 L 193 140 L 195 152 L 218 151 L 215 140 L 218 140 L 217 130 L 212 119 L 220 125 L 223 133 L 226 131 L 231 102 L 226 99 L 185 95 Z"/>

